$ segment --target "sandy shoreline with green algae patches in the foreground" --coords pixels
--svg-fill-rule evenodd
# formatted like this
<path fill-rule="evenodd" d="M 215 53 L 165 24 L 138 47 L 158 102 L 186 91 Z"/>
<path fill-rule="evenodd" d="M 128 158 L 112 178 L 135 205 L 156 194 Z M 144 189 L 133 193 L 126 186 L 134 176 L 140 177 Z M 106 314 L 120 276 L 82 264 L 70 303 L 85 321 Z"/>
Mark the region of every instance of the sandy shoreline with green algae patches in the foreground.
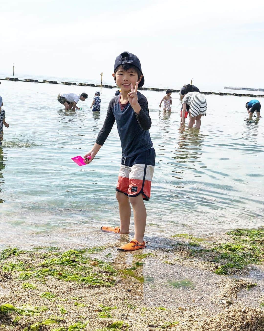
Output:
<path fill-rule="evenodd" d="M 133 253 L 2 251 L 0 329 L 263 330 L 264 228 L 171 238 Z"/>

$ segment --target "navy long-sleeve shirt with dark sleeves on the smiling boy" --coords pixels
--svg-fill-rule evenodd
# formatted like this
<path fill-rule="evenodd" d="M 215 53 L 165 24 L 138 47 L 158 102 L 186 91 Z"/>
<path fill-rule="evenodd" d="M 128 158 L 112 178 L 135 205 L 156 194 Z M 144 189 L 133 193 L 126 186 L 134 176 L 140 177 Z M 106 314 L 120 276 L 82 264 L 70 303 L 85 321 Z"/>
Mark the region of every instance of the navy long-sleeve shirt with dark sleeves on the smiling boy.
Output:
<path fill-rule="evenodd" d="M 148 101 L 140 92 L 137 95 L 141 106 L 139 114 L 134 112 L 129 103 L 121 110 L 120 95 L 110 101 L 104 125 L 96 139 L 98 145 L 104 144 L 116 121 L 122 156 L 131 157 L 152 147 Z"/>

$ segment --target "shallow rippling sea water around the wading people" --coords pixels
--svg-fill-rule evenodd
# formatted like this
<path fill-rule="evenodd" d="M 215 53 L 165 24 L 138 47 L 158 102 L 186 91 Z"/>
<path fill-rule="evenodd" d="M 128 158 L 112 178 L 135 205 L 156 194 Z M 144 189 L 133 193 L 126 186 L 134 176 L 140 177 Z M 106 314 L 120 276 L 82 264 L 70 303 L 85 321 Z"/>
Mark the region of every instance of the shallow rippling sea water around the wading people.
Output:
<path fill-rule="evenodd" d="M 90 108 L 96 87 L 2 81 L 9 128 L 0 147 L 0 247 L 97 246 L 111 242 L 102 225 L 118 225 L 115 187 L 121 159 L 116 124 L 89 166 L 71 158 L 93 146 L 115 89 L 102 88 L 101 112 Z M 88 93 L 82 110 L 64 111 L 62 91 Z M 264 119 L 248 119 L 248 97 L 207 95 L 201 130 L 179 130 L 180 101 L 159 112 L 149 102 L 156 150 L 146 240 L 176 233 L 198 237 L 263 225 Z M 263 98 L 259 98 L 263 103 Z M 264 105 L 264 103 L 263 103 Z M 187 127 L 187 125 L 186 125 Z M 131 231 L 133 235 L 133 214 Z"/>

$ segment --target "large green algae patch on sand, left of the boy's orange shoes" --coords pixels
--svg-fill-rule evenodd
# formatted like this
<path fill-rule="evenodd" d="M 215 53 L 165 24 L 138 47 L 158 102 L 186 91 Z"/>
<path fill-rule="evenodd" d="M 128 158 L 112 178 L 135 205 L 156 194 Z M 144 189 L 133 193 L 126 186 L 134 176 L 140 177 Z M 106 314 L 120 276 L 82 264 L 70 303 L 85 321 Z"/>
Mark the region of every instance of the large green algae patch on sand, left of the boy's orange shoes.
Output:
<path fill-rule="evenodd" d="M 101 250 L 101 248 L 99 248 Z M 114 286 L 115 281 L 112 276 L 116 271 L 111 263 L 97 260 L 96 265 L 91 265 L 91 259 L 83 254 L 87 250 L 69 250 L 60 252 L 23 252 L 23 256 L 28 260 L 36 257 L 43 262 L 37 265 L 28 265 L 24 261 L 12 261 L 2 265 L 3 271 L 21 271 L 17 276 L 20 280 L 35 278 L 45 282 L 48 277 L 54 277 L 64 281 L 74 281 L 85 283 L 88 286 Z M 5 250 L 4 257 L 15 254 L 17 249 Z M 90 250 L 88 250 L 90 253 Z M 94 260 L 93 260 L 94 261 Z"/>

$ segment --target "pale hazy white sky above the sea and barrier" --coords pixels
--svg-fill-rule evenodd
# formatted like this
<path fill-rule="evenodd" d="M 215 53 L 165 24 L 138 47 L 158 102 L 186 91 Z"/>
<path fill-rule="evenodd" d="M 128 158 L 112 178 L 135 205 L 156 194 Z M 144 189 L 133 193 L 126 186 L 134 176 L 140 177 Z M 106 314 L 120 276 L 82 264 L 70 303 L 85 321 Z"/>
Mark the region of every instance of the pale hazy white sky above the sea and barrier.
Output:
<path fill-rule="evenodd" d="M 0 12 L 0 72 L 111 81 L 128 51 L 145 86 L 264 88 L 264 1 L 1 0 Z"/>

